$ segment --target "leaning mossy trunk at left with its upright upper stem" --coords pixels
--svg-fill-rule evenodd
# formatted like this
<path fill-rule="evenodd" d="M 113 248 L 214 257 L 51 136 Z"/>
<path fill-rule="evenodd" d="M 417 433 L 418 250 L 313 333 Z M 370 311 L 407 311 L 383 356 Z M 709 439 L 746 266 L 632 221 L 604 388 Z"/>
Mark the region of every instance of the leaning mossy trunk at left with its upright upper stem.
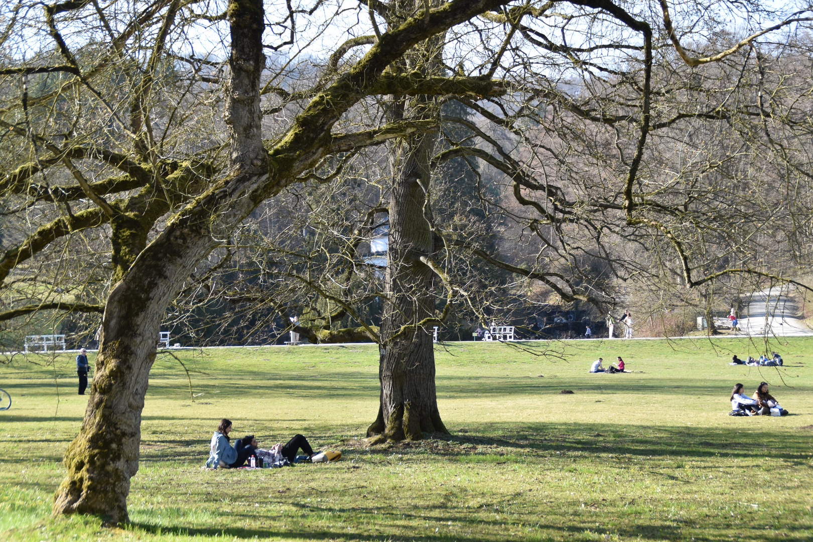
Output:
<path fill-rule="evenodd" d="M 141 410 L 164 310 L 195 265 L 217 246 L 218 230 L 228 230 L 256 206 L 246 193 L 267 177 L 259 108 L 259 76 L 265 63 L 263 2 L 231 2 L 228 17 L 232 56 L 226 119 L 232 152 L 221 190 L 234 190 L 233 203 L 219 208 L 220 196 L 211 192 L 198 208 L 199 218 L 189 211 L 171 224 L 113 288 L 102 319 L 85 419 L 65 453 L 67 475 L 56 492 L 54 514 L 99 514 L 110 522 L 128 518 L 130 479 L 138 470 Z"/>

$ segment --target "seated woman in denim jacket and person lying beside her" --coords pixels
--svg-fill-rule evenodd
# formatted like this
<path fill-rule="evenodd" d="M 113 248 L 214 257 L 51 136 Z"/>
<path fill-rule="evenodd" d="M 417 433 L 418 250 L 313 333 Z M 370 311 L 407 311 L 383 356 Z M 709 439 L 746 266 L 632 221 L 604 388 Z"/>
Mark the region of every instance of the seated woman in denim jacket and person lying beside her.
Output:
<path fill-rule="evenodd" d="M 243 466 L 249 457 L 259 457 L 270 464 L 287 460 L 293 463 L 298 450 L 306 453 L 308 457 L 313 457 L 311 444 L 302 435 L 295 435 L 286 444 L 274 444 L 270 450 L 259 448 L 259 443 L 254 435 L 247 435 L 237 440 L 232 446 L 228 433 L 232 431 L 232 422 L 226 418 L 220 420 L 217 430 L 211 436 L 209 445 L 209 459 L 206 466 L 211 469 L 218 467 L 237 468 Z"/>

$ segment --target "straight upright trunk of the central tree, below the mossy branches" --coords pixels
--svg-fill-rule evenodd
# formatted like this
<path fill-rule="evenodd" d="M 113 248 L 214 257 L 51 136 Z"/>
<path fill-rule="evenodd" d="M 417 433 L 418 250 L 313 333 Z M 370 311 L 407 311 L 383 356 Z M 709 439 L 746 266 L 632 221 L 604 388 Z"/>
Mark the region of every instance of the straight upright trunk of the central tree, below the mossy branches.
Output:
<path fill-rule="evenodd" d="M 435 138 L 409 138 L 394 150 L 389 203 L 389 249 L 379 347 L 380 404 L 367 428 L 372 443 L 418 440 L 447 433 L 437 410 L 432 326 L 417 326 L 435 314 L 433 271 L 421 256 L 433 252 L 433 234 L 424 218 L 428 163 Z M 402 332 L 406 326 L 408 332 Z"/>

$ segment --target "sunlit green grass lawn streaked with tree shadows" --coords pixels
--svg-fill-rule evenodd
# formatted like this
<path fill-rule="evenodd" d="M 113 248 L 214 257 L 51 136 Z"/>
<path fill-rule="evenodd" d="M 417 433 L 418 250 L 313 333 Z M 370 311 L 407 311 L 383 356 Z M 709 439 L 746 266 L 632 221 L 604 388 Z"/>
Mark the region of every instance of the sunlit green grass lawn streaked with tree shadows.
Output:
<path fill-rule="evenodd" d="M 785 367 L 729 366 L 743 339 L 438 345 L 452 436 L 367 448 L 374 345 L 159 356 L 124 528 L 50 518 L 87 397 L 73 356 L 0 366 L 0 540 L 813 540 L 813 339 Z M 621 355 L 628 375 L 589 375 Z M 93 357 L 90 357 L 93 365 Z M 778 369 L 778 370 L 777 370 Z M 735 382 L 766 380 L 791 415 L 728 416 Z M 573 394 L 561 394 L 563 389 Z M 341 462 L 202 470 L 211 433 L 297 432 Z"/>

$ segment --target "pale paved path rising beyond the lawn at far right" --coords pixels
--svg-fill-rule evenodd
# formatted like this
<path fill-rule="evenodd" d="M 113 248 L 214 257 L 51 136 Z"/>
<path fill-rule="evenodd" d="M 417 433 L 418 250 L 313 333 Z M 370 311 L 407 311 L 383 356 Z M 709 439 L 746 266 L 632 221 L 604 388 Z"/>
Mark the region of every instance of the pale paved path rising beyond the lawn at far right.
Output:
<path fill-rule="evenodd" d="M 813 329 L 798 319 L 800 312 L 793 291 L 786 286 L 754 292 L 740 314 L 738 335 L 813 335 Z"/>

